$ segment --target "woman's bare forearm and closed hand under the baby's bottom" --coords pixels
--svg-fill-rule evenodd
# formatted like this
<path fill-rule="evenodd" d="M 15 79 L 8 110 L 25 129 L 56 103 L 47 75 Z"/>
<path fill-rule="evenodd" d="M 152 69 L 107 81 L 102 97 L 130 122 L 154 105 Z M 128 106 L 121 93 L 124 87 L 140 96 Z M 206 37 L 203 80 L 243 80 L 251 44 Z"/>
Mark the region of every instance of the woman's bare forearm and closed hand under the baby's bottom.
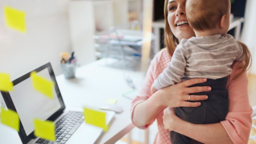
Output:
<path fill-rule="evenodd" d="M 177 117 L 173 107 L 164 110 L 163 124 L 169 131 L 176 131 L 202 143 L 233 143 L 220 122 L 193 124 Z"/>

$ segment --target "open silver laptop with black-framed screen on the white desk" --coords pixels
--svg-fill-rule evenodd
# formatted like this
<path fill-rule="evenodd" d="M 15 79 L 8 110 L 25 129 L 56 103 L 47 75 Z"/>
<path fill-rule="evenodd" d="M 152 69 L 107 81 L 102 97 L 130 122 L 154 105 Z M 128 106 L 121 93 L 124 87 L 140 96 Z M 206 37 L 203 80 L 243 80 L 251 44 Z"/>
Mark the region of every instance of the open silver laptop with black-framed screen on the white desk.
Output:
<path fill-rule="evenodd" d="M 54 82 L 54 98 L 50 99 L 33 88 L 29 72 L 13 81 L 14 91 L 3 92 L 7 108 L 17 111 L 20 119 L 19 137 L 22 143 L 96 143 L 103 129 L 84 121 L 82 108 L 66 109 L 58 83 L 50 63 L 33 70 L 43 78 Z M 70 95 L 72 96 L 72 95 Z M 110 123 L 115 112 L 106 112 L 106 123 Z M 34 118 L 55 123 L 56 141 L 35 137 Z"/>

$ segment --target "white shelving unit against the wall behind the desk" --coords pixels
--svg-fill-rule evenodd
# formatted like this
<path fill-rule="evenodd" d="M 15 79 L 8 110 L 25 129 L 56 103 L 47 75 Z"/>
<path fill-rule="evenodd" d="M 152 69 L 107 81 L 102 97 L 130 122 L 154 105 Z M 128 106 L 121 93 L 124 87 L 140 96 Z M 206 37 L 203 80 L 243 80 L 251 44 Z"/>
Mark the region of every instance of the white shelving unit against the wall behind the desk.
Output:
<path fill-rule="evenodd" d="M 79 64 L 96 60 L 93 36 L 112 26 L 129 23 L 129 12 L 140 18 L 142 0 L 72 0 L 69 3 L 69 22 L 72 49 Z"/>

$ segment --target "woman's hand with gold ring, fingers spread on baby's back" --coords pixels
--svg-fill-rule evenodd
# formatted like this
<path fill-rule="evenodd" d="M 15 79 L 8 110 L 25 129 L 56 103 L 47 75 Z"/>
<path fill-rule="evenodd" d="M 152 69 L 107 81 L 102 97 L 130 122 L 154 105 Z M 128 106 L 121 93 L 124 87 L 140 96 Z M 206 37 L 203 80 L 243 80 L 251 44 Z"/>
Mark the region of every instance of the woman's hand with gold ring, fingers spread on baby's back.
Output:
<path fill-rule="evenodd" d="M 159 93 L 159 105 L 160 106 L 170 106 L 170 107 L 197 107 L 201 105 L 200 102 L 188 102 L 190 93 L 198 93 L 203 91 L 210 91 L 209 86 L 196 86 L 189 87 L 197 83 L 206 82 L 206 78 L 195 78 L 189 79 L 187 81 L 176 83 L 158 90 Z M 207 95 L 190 95 L 190 101 L 200 101 L 207 99 Z"/>

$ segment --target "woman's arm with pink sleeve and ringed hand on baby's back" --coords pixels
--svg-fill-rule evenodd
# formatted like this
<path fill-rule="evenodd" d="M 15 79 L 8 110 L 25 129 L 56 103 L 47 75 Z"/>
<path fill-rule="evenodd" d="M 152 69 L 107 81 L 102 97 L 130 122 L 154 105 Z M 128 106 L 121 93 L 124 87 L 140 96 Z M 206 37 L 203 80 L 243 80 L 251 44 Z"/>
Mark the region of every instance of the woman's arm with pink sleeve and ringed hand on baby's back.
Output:
<path fill-rule="evenodd" d="M 190 85 L 205 82 L 202 78 L 190 79 L 188 81 L 180 82 L 178 84 L 166 87 L 152 95 L 150 88 L 154 82 L 155 71 L 157 70 L 159 59 L 161 58 L 162 51 L 157 53 L 151 61 L 149 69 L 146 74 L 145 83 L 133 102 L 131 108 L 131 119 L 135 126 L 145 129 L 149 126 L 158 115 L 159 111 L 166 106 L 179 107 L 179 106 L 199 106 L 198 102 L 186 102 L 189 93 L 196 93 L 200 91 L 209 91 L 208 86 L 188 88 Z M 205 100 L 206 95 L 191 95 L 190 100 Z"/>

